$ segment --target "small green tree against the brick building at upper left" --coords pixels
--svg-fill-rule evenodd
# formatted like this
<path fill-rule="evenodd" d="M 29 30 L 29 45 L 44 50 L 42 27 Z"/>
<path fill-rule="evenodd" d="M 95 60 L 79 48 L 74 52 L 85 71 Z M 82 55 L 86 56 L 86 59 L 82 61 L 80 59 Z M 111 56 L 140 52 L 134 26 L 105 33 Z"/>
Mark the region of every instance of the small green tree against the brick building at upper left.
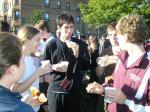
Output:
<path fill-rule="evenodd" d="M 31 23 L 36 24 L 40 19 L 43 19 L 44 11 L 34 9 L 31 14 Z"/>

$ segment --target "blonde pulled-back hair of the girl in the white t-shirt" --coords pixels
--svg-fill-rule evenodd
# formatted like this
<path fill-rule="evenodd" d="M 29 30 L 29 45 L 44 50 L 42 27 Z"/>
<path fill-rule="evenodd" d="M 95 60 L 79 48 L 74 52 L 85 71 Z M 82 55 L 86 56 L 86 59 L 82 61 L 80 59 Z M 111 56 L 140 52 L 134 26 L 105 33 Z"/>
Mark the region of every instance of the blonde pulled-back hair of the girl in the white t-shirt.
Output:
<path fill-rule="evenodd" d="M 39 31 L 33 26 L 25 25 L 19 29 L 17 36 L 24 44 L 25 41 L 31 40 L 38 33 Z"/>

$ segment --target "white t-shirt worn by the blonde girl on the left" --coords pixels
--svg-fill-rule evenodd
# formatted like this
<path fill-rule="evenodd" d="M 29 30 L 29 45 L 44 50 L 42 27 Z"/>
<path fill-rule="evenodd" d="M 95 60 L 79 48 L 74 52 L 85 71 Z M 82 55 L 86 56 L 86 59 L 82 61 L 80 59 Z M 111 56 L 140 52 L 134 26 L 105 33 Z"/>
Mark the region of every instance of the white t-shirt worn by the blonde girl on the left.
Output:
<path fill-rule="evenodd" d="M 27 80 L 36 71 L 36 67 L 34 65 L 34 61 L 31 56 L 25 56 L 24 61 L 25 61 L 25 71 L 20 82 L 24 82 L 25 80 Z M 39 78 L 31 86 L 39 89 Z M 24 101 L 30 95 L 29 89 L 24 93 L 22 93 L 21 95 L 23 96 L 21 100 Z M 37 112 L 39 108 L 40 106 L 35 107 L 34 108 L 35 112 Z"/>

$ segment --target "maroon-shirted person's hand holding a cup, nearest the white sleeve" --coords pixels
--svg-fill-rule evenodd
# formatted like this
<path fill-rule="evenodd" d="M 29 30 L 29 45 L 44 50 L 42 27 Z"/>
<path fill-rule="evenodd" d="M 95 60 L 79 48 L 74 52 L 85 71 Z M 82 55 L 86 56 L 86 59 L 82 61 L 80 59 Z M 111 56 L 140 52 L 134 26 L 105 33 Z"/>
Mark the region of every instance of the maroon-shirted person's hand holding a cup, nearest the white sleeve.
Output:
<path fill-rule="evenodd" d="M 111 101 L 118 104 L 124 104 L 126 95 L 119 89 L 105 91 L 105 96 Z"/>

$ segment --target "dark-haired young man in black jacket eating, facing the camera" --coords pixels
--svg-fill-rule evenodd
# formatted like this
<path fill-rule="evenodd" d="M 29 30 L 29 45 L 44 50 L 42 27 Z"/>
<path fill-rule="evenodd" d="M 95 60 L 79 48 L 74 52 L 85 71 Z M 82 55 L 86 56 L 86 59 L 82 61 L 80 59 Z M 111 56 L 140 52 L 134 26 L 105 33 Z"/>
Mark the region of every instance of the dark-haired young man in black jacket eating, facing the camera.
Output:
<path fill-rule="evenodd" d="M 83 42 L 72 37 L 72 15 L 60 15 L 57 28 L 59 37 L 46 44 L 43 54 L 43 60 L 50 60 L 53 68 L 53 81 L 48 88 L 48 109 L 50 112 L 80 112 L 80 71 L 88 68 L 90 56 Z"/>

